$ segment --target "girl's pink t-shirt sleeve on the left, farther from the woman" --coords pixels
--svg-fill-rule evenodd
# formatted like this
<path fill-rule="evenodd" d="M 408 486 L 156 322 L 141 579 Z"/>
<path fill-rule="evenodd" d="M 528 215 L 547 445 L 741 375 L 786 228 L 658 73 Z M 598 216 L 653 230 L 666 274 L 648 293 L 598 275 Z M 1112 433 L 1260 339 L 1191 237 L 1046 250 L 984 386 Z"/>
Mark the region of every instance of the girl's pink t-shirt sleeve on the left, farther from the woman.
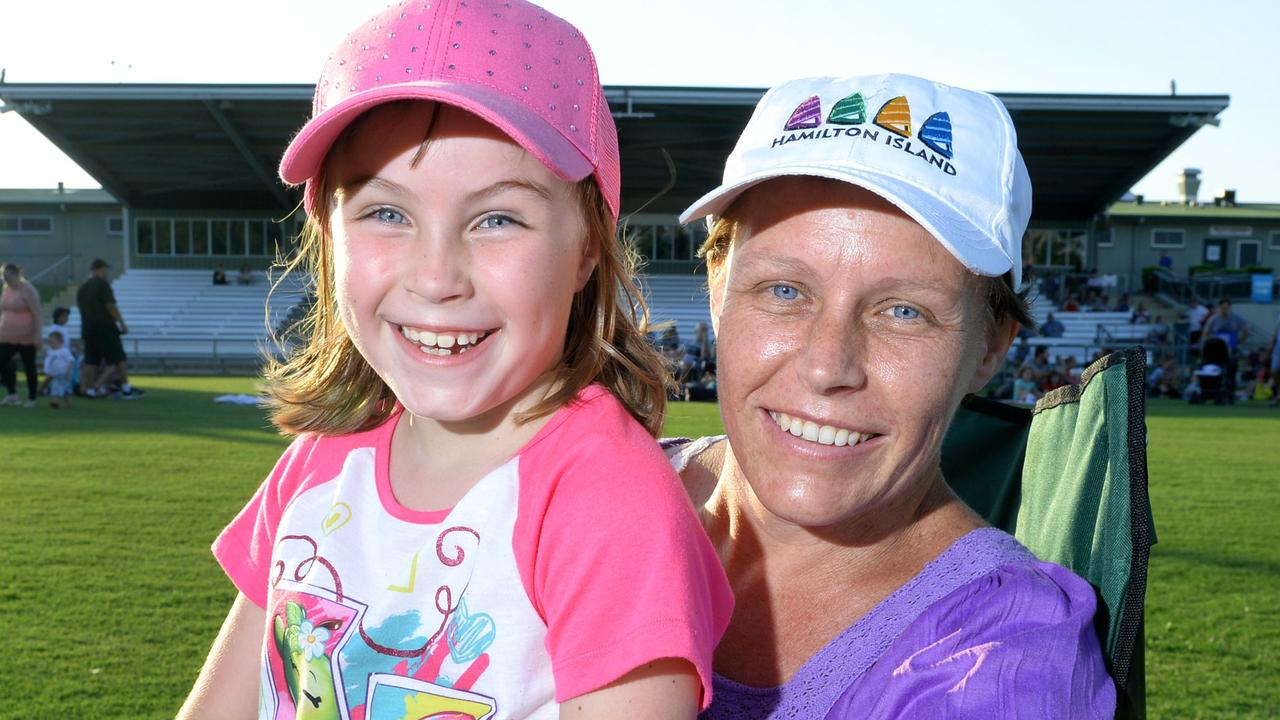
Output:
<path fill-rule="evenodd" d="M 275 528 L 289 500 L 302 489 L 317 445 L 315 436 L 294 439 L 244 509 L 214 541 L 214 557 L 223 571 L 259 607 L 266 607 Z"/>

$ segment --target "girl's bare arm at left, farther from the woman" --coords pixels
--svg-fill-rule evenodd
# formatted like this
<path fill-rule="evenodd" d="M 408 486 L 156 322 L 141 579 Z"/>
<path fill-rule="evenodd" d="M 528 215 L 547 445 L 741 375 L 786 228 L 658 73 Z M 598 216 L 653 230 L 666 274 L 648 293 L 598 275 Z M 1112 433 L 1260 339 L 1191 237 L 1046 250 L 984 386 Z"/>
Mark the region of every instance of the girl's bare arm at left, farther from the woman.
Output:
<path fill-rule="evenodd" d="M 178 720 L 255 717 L 266 611 L 236 596 Z"/>

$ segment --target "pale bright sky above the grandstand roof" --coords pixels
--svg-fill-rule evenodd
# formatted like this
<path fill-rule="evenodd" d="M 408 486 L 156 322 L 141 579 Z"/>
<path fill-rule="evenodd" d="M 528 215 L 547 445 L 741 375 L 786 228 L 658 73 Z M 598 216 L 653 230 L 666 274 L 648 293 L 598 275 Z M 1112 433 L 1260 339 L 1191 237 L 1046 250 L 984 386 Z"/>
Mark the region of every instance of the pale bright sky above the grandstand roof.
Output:
<path fill-rule="evenodd" d="M 310 83 L 385 0 L 9 1 L 8 82 Z M 1272 0 L 544 0 L 591 42 L 605 85 L 768 87 L 804 76 L 911 73 L 991 92 L 1229 95 L 1134 186 L 1176 199 L 1280 202 Z M 73 19 L 74 22 L 67 22 Z M 17 113 L 0 114 L 0 187 L 99 187 Z M 1043 182 L 1041 179 L 1039 182 Z"/>

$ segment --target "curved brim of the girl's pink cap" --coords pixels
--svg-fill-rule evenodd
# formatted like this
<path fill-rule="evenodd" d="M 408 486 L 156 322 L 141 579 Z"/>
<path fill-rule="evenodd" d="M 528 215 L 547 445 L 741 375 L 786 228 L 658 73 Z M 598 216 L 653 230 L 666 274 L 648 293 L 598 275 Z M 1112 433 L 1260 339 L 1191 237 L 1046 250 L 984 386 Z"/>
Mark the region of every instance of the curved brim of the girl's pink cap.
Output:
<path fill-rule="evenodd" d="M 394 100 L 431 100 L 467 110 L 507 133 L 566 182 L 577 182 L 594 172 L 591 159 L 538 113 L 507 95 L 470 83 L 422 81 L 358 92 L 311 118 L 285 149 L 280 178 L 301 184 L 315 177 L 347 126 L 370 109 Z"/>

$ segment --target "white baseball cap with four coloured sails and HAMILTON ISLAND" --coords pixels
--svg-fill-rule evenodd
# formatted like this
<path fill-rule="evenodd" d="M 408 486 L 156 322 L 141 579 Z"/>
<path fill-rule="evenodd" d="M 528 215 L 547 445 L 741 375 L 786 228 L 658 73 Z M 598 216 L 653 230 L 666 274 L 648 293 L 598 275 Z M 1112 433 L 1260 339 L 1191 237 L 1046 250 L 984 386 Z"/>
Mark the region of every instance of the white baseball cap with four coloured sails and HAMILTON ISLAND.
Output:
<path fill-rule="evenodd" d="M 785 82 L 755 106 L 724 182 L 681 223 L 722 214 L 767 179 L 814 176 L 867 188 L 910 215 L 982 275 L 1021 283 L 1032 181 L 993 95 L 882 74 Z"/>

